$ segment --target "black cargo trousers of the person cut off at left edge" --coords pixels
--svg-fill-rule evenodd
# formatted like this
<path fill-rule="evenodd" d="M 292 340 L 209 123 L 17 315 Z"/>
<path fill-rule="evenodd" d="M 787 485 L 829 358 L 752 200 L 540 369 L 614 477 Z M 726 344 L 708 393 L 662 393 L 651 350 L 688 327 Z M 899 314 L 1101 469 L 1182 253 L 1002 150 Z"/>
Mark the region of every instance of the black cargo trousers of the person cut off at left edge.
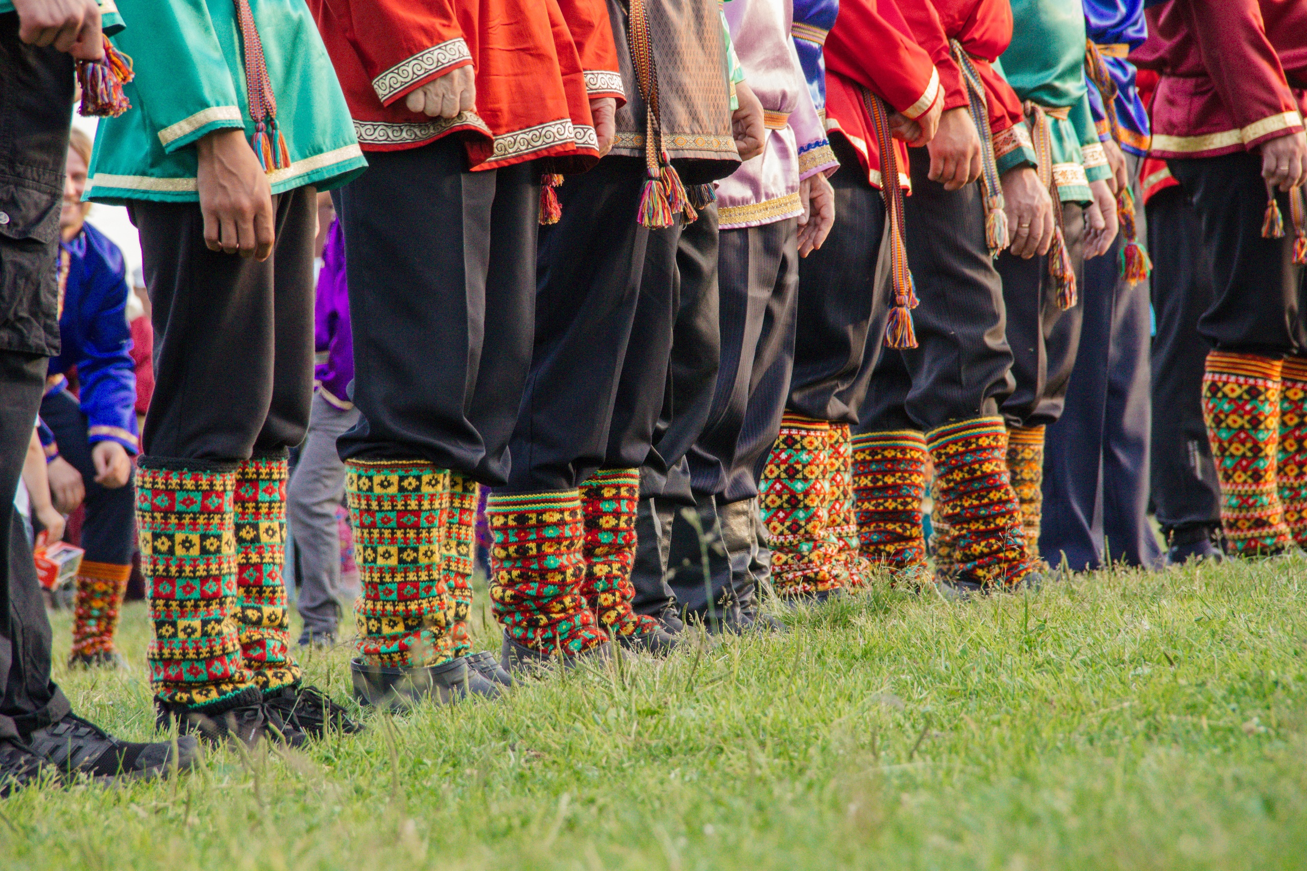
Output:
<path fill-rule="evenodd" d="M 72 119 L 73 60 L 18 40 L 0 14 L 0 738 L 68 713 L 50 680 L 50 622 L 13 496 L 59 350 L 59 204 Z"/>

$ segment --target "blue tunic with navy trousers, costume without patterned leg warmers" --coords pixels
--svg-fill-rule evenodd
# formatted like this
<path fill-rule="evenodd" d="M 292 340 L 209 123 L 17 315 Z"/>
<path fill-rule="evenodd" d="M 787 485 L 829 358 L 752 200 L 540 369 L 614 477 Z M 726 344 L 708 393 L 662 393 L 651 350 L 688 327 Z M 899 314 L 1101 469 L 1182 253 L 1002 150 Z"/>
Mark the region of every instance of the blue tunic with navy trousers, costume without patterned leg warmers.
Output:
<path fill-rule="evenodd" d="M 1104 560 L 1158 568 L 1149 501 L 1149 312 L 1138 167 L 1148 114 L 1125 55 L 1148 35 L 1144 1 L 1082 0 L 1089 102 L 1103 142 L 1125 154 L 1131 189 L 1117 195 L 1121 231 L 1085 264 L 1081 337 L 1059 420 L 1047 430 L 1040 552 L 1074 571 Z"/>

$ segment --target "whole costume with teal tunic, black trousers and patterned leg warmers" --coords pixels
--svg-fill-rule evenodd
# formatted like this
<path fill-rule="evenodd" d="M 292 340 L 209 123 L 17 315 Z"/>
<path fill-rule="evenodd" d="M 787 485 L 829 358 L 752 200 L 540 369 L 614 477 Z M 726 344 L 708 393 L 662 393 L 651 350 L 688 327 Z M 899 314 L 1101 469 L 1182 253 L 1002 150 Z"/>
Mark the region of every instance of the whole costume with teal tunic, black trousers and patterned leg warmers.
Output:
<path fill-rule="evenodd" d="M 302 4 L 119 5 L 148 25 L 115 38 L 131 108 L 101 124 L 86 197 L 128 206 L 153 304 L 136 490 L 158 722 L 246 740 L 271 723 L 294 743 L 350 726 L 302 684 L 281 569 L 288 448 L 312 398 L 316 189 L 366 163 Z M 195 144 L 220 129 L 244 131 L 268 172 L 263 262 L 205 245 Z"/>

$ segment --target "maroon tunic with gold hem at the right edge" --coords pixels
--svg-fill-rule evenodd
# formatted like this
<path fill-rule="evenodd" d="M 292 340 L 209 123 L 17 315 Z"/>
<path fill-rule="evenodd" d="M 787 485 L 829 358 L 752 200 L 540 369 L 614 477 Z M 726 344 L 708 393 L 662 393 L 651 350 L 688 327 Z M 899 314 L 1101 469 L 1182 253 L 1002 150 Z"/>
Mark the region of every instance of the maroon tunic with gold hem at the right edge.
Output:
<path fill-rule="evenodd" d="M 1131 61 L 1161 73 L 1153 157 L 1216 157 L 1303 129 L 1307 3 L 1171 0 Z M 1287 81 L 1286 81 L 1287 76 Z"/>

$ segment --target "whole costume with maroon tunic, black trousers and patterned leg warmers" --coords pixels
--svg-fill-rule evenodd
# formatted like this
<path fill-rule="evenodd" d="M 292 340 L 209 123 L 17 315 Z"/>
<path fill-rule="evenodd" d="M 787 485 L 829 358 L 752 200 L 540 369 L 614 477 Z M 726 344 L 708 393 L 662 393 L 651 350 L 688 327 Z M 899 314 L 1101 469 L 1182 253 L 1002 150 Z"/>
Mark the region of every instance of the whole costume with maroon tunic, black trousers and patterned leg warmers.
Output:
<path fill-rule="evenodd" d="M 1257 146 L 1303 129 L 1307 7 L 1171 0 L 1148 21 L 1134 56 L 1161 73 L 1151 155 L 1192 201 L 1212 259 L 1202 411 L 1227 550 L 1293 550 L 1307 543 L 1307 227 L 1302 191 L 1268 191 Z"/>

